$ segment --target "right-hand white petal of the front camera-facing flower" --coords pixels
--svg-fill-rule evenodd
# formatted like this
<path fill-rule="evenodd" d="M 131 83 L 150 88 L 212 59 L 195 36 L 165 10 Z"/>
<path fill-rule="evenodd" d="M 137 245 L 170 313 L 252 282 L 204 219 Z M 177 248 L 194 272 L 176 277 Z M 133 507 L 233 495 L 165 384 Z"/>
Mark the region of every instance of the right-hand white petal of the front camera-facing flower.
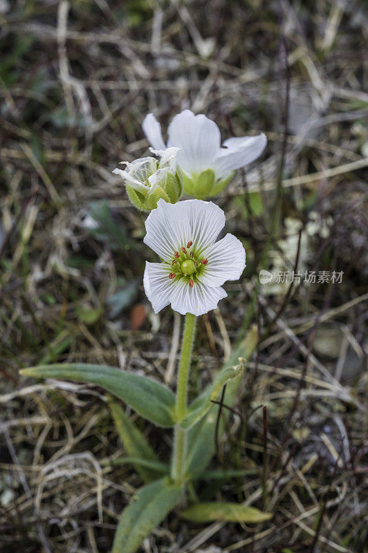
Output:
<path fill-rule="evenodd" d="M 246 252 L 234 234 L 226 234 L 222 240 L 203 250 L 208 259 L 199 279 L 207 286 L 220 286 L 225 281 L 237 281 L 246 267 Z"/>

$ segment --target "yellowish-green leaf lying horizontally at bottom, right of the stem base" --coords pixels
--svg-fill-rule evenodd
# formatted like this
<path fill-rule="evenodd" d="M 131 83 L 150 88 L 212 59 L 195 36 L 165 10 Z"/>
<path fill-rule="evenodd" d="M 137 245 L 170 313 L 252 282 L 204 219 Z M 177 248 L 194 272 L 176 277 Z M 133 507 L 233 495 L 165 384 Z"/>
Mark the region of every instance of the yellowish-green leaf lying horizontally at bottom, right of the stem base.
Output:
<path fill-rule="evenodd" d="M 255 507 L 238 503 L 196 503 L 180 514 L 187 521 L 208 523 L 211 521 L 229 521 L 233 523 L 261 523 L 272 518 L 272 513 L 264 513 Z"/>

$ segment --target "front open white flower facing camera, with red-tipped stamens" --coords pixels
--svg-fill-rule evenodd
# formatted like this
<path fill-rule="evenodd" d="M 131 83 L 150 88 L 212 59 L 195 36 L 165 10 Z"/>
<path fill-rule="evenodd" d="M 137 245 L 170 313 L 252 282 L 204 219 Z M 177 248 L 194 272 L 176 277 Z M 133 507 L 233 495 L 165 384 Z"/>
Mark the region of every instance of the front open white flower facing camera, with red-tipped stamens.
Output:
<path fill-rule="evenodd" d="M 146 261 L 144 285 L 158 313 L 171 303 L 182 315 L 203 315 L 227 294 L 221 284 L 239 279 L 246 252 L 232 234 L 216 241 L 225 225 L 223 210 L 212 202 L 159 200 L 145 223 L 144 242 L 163 260 Z"/>

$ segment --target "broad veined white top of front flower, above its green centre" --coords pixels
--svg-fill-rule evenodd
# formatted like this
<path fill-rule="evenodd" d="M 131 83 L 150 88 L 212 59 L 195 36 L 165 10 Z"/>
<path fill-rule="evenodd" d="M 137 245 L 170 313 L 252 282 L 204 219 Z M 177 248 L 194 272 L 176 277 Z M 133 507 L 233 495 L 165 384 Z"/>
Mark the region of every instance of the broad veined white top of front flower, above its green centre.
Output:
<path fill-rule="evenodd" d="M 213 244 L 224 225 L 223 210 L 212 202 L 184 200 L 172 204 L 161 198 L 147 217 L 143 241 L 161 259 L 171 262 L 174 252 L 189 241 L 199 252 Z"/>

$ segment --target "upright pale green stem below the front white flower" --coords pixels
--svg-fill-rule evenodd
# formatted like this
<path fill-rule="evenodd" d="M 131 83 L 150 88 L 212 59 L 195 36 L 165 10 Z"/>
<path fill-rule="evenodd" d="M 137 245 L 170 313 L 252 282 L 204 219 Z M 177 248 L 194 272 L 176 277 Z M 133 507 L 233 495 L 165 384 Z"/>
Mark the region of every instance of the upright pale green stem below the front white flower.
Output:
<path fill-rule="evenodd" d="M 181 358 L 178 371 L 178 385 L 176 387 L 176 420 L 181 421 L 187 411 L 187 388 L 190 370 L 190 359 L 194 332 L 196 330 L 196 316 L 192 313 L 185 315 L 183 344 L 181 346 Z M 185 480 L 185 453 L 187 445 L 187 430 L 176 424 L 174 429 L 174 452 L 172 456 L 172 478 L 178 484 Z"/>

